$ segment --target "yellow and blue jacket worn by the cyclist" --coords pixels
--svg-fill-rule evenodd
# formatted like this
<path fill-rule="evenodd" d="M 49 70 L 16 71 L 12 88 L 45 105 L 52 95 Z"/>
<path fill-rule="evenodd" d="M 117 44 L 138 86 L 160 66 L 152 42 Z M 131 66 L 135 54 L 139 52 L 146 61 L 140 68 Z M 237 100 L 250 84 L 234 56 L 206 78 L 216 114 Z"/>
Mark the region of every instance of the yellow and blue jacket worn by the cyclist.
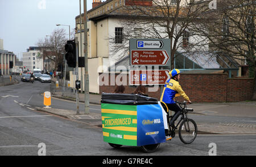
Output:
<path fill-rule="evenodd" d="M 163 93 L 160 101 L 165 102 L 166 104 L 175 104 L 174 97 L 182 96 L 185 100 L 189 101 L 188 96 L 185 94 L 181 88 L 179 82 L 174 79 L 169 79 L 164 85 Z"/>

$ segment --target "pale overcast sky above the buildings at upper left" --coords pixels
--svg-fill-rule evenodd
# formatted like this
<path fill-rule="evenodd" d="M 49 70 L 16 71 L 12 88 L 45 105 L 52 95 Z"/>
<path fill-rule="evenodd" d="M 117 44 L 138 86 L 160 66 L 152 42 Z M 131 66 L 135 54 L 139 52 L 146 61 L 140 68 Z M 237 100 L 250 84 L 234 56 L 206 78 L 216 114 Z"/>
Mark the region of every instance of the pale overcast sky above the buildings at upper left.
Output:
<path fill-rule="evenodd" d="M 87 0 L 87 10 L 92 8 L 92 1 Z M 83 3 L 81 0 L 81 12 Z M 68 27 L 56 24 L 71 25 L 75 28 L 75 18 L 79 15 L 79 0 L 0 0 L 0 38 L 3 49 L 14 52 L 20 58 L 29 46 L 54 29 Z"/>

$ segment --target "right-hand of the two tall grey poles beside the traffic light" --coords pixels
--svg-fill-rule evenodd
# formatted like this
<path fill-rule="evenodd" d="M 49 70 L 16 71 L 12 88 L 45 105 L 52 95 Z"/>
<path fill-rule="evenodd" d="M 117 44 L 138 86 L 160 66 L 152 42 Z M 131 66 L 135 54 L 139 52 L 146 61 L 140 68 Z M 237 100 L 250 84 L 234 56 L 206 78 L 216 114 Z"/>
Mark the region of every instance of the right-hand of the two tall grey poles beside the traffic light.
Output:
<path fill-rule="evenodd" d="M 87 7 L 86 0 L 84 0 L 84 109 L 85 114 L 89 114 L 89 74 L 88 74 L 88 55 L 87 55 Z"/>

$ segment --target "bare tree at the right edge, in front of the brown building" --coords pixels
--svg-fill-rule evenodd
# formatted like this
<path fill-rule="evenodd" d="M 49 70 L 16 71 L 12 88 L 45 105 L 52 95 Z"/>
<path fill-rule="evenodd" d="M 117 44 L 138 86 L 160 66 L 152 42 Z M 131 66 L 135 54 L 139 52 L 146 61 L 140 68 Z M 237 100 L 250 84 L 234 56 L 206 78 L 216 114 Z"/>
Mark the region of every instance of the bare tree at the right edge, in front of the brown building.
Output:
<path fill-rule="evenodd" d="M 225 54 L 240 65 L 248 65 L 249 77 L 255 79 L 256 85 L 256 1 L 218 2 L 217 9 L 201 15 L 204 22 L 194 28 L 200 36 L 207 37 L 213 51 Z"/>

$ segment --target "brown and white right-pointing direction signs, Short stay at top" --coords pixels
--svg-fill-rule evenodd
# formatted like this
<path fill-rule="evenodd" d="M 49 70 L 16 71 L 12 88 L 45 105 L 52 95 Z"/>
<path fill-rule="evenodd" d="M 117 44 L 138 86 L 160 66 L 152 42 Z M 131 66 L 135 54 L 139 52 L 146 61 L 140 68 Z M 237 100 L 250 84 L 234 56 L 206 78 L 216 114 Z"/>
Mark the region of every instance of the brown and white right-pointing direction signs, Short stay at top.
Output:
<path fill-rule="evenodd" d="M 169 70 L 164 70 L 171 65 L 170 46 L 171 40 L 166 38 L 130 39 L 130 66 L 146 66 L 146 69 L 129 69 L 129 85 L 164 85 L 170 78 Z M 149 70 L 149 66 L 154 66 L 154 70 Z M 156 70 L 158 67 L 161 70 Z"/>

